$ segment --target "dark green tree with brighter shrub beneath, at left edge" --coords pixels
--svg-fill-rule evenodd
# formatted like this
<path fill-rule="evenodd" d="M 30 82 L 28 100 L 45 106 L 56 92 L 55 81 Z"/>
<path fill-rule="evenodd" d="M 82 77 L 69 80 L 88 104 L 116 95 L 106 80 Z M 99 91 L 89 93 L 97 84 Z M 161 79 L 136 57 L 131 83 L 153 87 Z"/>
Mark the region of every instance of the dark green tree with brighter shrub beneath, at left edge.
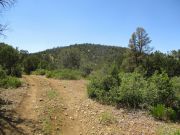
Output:
<path fill-rule="evenodd" d="M 0 87 L 17 88 L 21 86 L 19 53 L 4 43 L 0 44 Z"/>

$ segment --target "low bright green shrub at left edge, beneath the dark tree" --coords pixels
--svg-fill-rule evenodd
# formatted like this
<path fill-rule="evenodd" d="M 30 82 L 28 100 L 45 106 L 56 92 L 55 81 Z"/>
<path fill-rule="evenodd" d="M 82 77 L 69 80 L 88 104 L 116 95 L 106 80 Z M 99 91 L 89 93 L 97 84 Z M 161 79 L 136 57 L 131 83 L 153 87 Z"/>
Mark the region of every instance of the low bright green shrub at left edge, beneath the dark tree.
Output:
<path fill-rule="evenodd" d="M 8 76 L 0 80 L 0 87 L 3 88 L 17 88 L 21 86 L 21 81 L 16 77 Z"/>

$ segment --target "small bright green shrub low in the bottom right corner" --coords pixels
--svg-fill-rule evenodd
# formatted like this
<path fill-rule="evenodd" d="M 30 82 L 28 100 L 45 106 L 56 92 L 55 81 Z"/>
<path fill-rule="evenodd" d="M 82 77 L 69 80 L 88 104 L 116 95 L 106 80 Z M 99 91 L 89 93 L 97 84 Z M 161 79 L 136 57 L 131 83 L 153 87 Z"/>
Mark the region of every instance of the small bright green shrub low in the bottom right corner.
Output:
<path fill-rule="evenodd" d="M 168 107 L 166 108 L 163 104 L 158 104 L 151 108 L 151 114 L 159 120 L 176 120 L 176 112 Z"/>

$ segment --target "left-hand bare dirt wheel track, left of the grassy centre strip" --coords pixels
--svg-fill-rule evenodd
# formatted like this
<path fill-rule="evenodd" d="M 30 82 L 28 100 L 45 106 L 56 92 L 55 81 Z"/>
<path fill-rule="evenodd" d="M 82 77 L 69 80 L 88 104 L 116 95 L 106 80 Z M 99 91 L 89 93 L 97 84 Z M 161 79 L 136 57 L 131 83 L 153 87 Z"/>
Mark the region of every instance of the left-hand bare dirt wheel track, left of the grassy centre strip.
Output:
<path fill-rule="evenodd" d="M 37 123 L 37 91 L 38 82 L 35 78 L 30 76 L 23 76 L 23 80 L 28 85 L 27 93 L 24 94 L 22 101 L 16 108 L 16 113 L 21 119 L 24 120 L 23 123 L 19 124 L 18 127 L 23 129 L 25 134 L 34 134 L 36 130 Z"/>

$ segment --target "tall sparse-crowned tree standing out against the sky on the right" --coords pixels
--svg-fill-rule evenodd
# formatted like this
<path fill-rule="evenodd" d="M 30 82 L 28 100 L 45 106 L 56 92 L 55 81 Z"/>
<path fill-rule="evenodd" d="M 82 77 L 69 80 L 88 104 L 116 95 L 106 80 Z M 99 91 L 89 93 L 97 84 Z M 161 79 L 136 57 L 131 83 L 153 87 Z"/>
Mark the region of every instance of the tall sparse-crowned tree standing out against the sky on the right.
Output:
<path fill-rule="evenodd" d="M 149 46 L 151 39 L 144 28 L 138 27 L 129 40 L 129 50 L 125 54 L 122 68 L 125 71 L 133 72 L 135 68 L 143 66 L 145 57 L 152 51 Z"/>

